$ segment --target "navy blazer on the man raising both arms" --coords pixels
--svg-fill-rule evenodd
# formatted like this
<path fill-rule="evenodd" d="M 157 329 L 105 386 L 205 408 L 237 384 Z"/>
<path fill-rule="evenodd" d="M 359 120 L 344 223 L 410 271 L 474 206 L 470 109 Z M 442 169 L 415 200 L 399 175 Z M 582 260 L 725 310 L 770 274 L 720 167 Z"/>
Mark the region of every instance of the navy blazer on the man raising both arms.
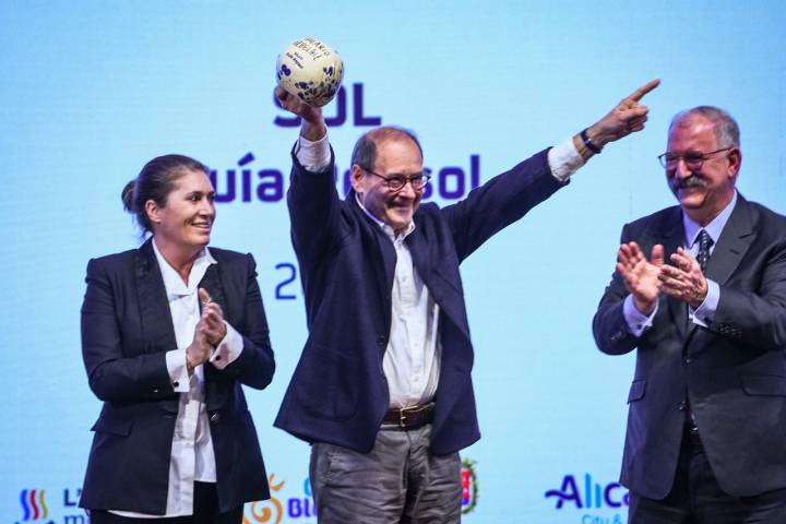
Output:
<path fill-rule="evenodd" d="M 309 337 L 275 426 L 309 442 L 367 452 L 390 401 L 382 357 L 391 329 L 395 249 L 354 193 L 338 199 L 332 164 L 323 172 L 307 172 L 297 158 L 294 163 L 288 205 Z M 541 152 L 457 204 L 439 209 L 426 203 L 415 213 L 416 228 L 406 242 L 440 306 L 434 454 L 452 453 L 480 438 L 458 264 L 561 187 Z"/>

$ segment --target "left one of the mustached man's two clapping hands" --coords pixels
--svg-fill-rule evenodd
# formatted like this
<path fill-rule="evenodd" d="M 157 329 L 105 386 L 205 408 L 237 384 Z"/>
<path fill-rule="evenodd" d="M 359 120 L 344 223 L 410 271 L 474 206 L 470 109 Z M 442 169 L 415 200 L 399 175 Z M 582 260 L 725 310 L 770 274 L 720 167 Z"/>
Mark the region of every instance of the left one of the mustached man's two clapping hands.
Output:
<path fill-rule="evenodd" d="M 653 246 L 651 261 L 636 242 L 620 246 L 617 252 L 617 272 L 633 296 L 633 305 L 643 314 L 655 310 L 660 293 L 660 271 L 664 266 L 663 246 Z"/>

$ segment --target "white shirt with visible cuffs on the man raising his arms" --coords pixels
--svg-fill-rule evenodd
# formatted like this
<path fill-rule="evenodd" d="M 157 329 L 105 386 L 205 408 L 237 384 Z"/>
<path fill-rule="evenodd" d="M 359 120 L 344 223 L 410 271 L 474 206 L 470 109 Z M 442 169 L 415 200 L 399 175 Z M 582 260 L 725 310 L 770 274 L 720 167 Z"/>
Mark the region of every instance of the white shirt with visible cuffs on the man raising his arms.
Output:
<path fill-rule="evenodd" d="M 295 155 L 306 169 L 324 170 L 331 159 L 327 135 L 317 142 L 300 136 Z M 573 139 L 550 148 L 548 163 L 551 174 L 561 182 L 568 181 L 584 165 Z M 359 199 L 357 203 L 391 239 L 397 257 L 391 290 L 391 333 L 382 358 L 390 407 L 421 405 L 430 402 L 437 392 L 442 348 L 439 342 L 439 305 L 420 279 L 404 241 L 415 230 L 415 224 L 410 223 L 404 233 L 396 236 L 393 228 L 369 213 Z"/>

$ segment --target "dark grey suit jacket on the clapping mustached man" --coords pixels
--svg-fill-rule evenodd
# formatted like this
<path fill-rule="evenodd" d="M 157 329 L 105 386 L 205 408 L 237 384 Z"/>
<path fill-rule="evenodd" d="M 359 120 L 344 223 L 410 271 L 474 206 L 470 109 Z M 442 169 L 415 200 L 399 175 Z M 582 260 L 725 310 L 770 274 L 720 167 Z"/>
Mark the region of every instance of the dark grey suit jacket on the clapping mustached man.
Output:
<path fill-rule="evenodd" d="M 666 255 L 684 242 L 682 214 L 669 207 L 628 224 L 622 242 Z M 742 497 L 786 488 L 786 218 L 738 199 L 710 258 L 720 286 L 708 327 L 688 323 L 684 302 L 660 297 L 652 327 L 628 331 L 619 274 L 600 300 L 595 341 L 604 353 L 638 348 L 628 403 L 622 484 L 653 499 L 674 481 L 686 391 L 718 484 Z"/>

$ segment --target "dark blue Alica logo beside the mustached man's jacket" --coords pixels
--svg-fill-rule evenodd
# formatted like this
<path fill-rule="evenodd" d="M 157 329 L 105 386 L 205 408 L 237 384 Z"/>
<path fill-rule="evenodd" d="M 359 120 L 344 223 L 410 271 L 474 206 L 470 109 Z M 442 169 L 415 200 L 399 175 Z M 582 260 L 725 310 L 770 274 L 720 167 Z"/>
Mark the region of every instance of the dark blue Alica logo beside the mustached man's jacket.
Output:
<path fill-rule="evenodd" d="M 559 489 L 549 489 L 547 500 L 555 502 L 555 510 L 573 510 L 581 524 L 621 524 L 624 519 L 617 511 L 627 511 L 628 490 L 617 481 L 596 481 L 588 473 L 564 475 Z"/>

